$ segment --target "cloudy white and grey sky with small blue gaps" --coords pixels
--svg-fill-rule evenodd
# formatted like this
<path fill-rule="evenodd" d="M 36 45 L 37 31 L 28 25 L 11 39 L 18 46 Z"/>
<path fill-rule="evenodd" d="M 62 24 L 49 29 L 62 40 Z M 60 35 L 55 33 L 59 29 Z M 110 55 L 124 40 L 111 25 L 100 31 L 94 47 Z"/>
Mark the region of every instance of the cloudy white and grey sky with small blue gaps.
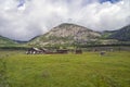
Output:
<path fill-rule="evenodd" d="M 62 23 L 94 30 L 130 24 L 130 0 L 0 0 L 0 35 L 29 40 Z"/>

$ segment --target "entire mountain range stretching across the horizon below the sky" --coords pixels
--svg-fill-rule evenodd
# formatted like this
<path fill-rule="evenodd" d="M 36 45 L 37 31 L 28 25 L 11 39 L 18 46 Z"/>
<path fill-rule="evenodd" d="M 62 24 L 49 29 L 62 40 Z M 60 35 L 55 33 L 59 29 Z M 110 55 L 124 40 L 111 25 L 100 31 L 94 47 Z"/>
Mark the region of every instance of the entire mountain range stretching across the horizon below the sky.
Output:
<path fill-rule="evenodd" d="M 72 47 L 77 45 L 118 45 L 130 44 L 130 25 L 117 30 L 94 32 L 87 27 L 64 23 L 48 33 L 26 41 L 11 40 L 0 36 L 0 47 Z"/>

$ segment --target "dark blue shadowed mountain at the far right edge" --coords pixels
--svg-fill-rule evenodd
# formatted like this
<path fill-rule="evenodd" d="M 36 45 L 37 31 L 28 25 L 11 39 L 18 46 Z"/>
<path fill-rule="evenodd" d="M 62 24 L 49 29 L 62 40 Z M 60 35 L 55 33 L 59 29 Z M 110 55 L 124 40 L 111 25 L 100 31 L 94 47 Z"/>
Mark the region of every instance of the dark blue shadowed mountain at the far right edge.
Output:
<path fill-rule="evenodd" d="M 130 25 L 118 30 L 110 32 L 107 38 L 118 39 L 119 41 L 130 41 Z"/>

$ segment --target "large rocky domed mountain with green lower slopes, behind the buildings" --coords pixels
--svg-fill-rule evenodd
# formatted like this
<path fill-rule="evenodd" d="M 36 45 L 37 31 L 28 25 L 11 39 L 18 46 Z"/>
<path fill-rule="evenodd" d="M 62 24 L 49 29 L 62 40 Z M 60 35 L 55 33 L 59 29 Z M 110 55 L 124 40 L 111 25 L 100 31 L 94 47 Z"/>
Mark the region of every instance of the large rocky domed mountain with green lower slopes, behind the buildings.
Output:
<path fill-rule="evenodd" d="M 64 23 L 36 37 L 28 42 L 29 46 L 53 46 L 53 45 L 75 45 L 95 44 L 101 37 L 101 33 L 93 32 L 87 27 Z"/>

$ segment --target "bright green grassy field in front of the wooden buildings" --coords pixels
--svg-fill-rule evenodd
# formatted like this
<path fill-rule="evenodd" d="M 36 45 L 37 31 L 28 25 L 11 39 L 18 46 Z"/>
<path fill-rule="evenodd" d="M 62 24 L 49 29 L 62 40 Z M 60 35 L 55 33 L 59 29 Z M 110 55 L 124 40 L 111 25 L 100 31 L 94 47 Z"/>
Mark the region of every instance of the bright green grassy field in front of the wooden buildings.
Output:
<path fill-rule="evenodd" d="M 130 52 L 102 57 L 99 52 L 27 55 L 3 51 L 1 58 L 0 87 L 130 87 Z"/>

